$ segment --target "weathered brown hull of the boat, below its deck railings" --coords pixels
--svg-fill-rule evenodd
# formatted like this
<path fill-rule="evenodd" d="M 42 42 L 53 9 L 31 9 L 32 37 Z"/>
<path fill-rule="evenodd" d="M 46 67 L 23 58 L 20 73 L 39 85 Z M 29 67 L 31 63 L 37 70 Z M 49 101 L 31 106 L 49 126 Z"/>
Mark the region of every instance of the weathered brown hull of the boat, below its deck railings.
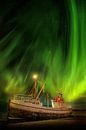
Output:
<path fill-rule="evenodd" d="M 36 105 L 24 105 L 22 103 L 9 102 L 8 116 L 28 118 L 31 120 L 56 119 L 68 117 L 72 114 L 71 109 L 57 110 L 52 107 L 43 107 Z"/>

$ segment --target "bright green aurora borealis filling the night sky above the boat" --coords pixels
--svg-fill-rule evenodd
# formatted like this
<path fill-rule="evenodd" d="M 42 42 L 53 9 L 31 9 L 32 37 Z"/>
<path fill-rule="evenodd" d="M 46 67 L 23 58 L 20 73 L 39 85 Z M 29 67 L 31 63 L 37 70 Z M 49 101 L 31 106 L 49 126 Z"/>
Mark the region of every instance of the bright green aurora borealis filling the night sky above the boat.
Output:
<path fill-rule="evenodd" d="M 86 0 L 7 0 L 0 4 L 0 96 L 22 93 L 32 73 L 52 96 L 86 92 Z"/>

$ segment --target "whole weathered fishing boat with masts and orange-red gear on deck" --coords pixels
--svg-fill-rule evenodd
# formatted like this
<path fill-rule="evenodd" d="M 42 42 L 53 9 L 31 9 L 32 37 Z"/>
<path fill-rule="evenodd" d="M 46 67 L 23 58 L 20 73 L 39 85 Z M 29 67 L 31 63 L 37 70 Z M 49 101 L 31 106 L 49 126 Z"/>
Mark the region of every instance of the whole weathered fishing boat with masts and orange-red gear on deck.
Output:
<path fill-rule="evenodd" d="M 8 116 L 25 119 L 56 119 L 68 117 L 72 114 L 72 108 L 64 101 L 61 93 L 51 99 L 51 106 L 44 106 L 40 101 L 40 95 L 44 91 L 45 83 L 38 94 L 36 94 L 36 84 L 34 81 L 33 93 L 17 94 L 10 98 L 8 104 Z"/>

